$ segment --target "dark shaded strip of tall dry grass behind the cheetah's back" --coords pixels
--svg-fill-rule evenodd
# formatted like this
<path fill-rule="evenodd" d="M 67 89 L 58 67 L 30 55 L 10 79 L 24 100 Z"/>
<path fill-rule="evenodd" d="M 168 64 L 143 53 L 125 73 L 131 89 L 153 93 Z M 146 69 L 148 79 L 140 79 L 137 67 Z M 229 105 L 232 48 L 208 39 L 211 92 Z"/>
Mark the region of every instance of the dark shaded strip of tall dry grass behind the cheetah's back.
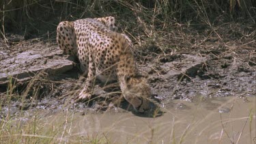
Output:
<path fill-rule="evenodd" d="M 156 33 L 170 30 L 172 25 L 195 23 L 214 26 L 216 17 L 224 16 L 227 20 L 246 18 L 255 23 L 255 2 L 239 1 L 1 1 L 1 35 L 22 33 L 25 39 L 44 35 L 54 38 L 56 25 L 61 20 L 78 18 L 115 16 L 120 21 L 122 30 L 158 38 Z M 136 27 L 136 29 L 134 29 Z M 132 31 L 132 29 L 134 31 Z M 138 38 L 134 35 L 133 38 Z M 6 41 L 7 42 L 7 41 Z M 137 40 L 139 42 L 139 40 Z"/>

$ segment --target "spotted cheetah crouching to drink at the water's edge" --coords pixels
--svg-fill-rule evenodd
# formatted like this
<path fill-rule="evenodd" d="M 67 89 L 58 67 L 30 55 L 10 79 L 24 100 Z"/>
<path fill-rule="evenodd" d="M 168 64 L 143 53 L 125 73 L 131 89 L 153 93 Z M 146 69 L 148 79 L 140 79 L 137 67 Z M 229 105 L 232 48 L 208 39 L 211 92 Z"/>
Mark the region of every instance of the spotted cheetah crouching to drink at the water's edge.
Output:
<path fill-rule="evenodd" d="M 115 32 L 116 27 L 111 24 L 102 18 L 85 18 L 63 21 L 57 27 L 59 48 L 78 57 L 81 69 L 87 74 L 85 87 L 78 99 L 88 100 L 91 97 L 95 78 L 103 83 L 118 81 L 122 96 L 136 111 L 149 111 L 153 109 L 150 86 L 137 68 L 126 36 Z"/>

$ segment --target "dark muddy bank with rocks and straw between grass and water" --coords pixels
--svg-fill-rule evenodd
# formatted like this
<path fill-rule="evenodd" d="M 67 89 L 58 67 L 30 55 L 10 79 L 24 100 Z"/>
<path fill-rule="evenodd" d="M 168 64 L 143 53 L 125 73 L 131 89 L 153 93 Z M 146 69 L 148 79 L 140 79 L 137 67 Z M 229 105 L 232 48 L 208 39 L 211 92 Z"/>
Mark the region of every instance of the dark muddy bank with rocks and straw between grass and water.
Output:
<path fill-rule="evenodd" d="M 129 107 L 127 102 L 122 102 L 122 109 L 113 106 L 119 89 L 106 90 L 108 86 L 100 83 L 96 83 L 93 102 L 73 104 L 85 78 L 77 61 L 62 55 L 56 44 L 31 41 L 6 46 L 2 41 L 1 49 L 2 106 L 11 107 L 1 111 L 1 117 L 17 115 L 20 110 L 56 112 L 71 108 L 84 115 L 110 109 L 126 111 Z M 149 74 L 154 97 L 164 109 L 173 106 L 173 99 L 193 102 L 198 97 L 238 96 L 246 100 L 256 96 L 255 49 L 216 45 L 197 53 L 169 51 L 163 55 L 157 46 L 151 46 L 143 53 L 137 51 L 138 67 Z M 14 89 L 8 89 L 11 77 Z M 10 91 L 11 101 L 7 97 Z M 113 91 L 116 94 L 109 94 Z"/>

